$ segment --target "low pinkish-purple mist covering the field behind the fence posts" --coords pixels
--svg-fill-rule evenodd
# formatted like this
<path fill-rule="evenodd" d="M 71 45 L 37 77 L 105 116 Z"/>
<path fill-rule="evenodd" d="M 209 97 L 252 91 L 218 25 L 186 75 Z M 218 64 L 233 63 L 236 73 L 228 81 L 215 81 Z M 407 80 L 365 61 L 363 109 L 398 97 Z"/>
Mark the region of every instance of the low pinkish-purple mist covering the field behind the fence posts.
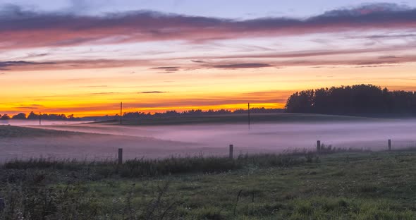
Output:
<path fill-rule="evenodd" d="M 51 123 L 52 124 L 52 123 Z M 238 153 L 283 152 L 324 145 L 372 150 L 416 146 L 416 120 L 368 119 L 292 123 L 206 123 L 176 126 L 119 126 L 112 123 L 1 126 L 1 159 L 57 157 L 114 159 L 121 147 L 126 158 L 177 155 L 225 155 L 228 145 Z M 6 132 L 6 130 L 11 130 Z M 43 133 L 35 131 L 47 129 Z M 31 129 L 31 130 L 26 130 Z M 56 133 L 54 130 L 65 132 Z M 17 135 L 16 135 L 17 134 Z"/>

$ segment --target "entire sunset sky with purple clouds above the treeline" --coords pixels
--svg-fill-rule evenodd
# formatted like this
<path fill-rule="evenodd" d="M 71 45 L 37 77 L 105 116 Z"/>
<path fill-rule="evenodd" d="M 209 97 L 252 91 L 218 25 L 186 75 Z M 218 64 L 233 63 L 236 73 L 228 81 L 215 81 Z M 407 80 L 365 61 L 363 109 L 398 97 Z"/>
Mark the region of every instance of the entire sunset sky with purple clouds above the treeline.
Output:
<path fill-rule="evenodd" d="M 416 90 L 415 1 L 0 0 L 0 114 L 283 108 Z"/>

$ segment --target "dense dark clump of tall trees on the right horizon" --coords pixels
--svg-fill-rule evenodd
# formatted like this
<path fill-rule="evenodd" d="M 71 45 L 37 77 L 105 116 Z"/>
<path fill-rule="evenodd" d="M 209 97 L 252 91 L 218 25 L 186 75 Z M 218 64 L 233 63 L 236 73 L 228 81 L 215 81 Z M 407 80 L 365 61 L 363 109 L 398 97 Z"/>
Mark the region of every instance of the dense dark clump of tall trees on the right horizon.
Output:
<path fill-rule="evenodd" d="M 375 85 L 353 85 L 292 94 L 286 112 L 349 116 L 415 116 L 416 92 L 389 91 Z"/>

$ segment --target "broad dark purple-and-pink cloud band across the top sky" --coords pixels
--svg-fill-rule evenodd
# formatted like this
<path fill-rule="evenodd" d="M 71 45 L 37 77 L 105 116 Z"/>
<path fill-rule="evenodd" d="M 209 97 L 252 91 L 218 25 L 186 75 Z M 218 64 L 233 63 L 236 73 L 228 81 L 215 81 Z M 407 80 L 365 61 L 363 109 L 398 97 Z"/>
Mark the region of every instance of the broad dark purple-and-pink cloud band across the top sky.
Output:
<path fill-rule="evenodd" d="M 153 11 L 78 16 L 25 11 L 8 6 L 0 11 L 0 48 L 61 47 L 181 39 L 305 35 L 346 30 L 403 30 L 416 27 L 416 9 L 397 4 L 369 4 L 327 11 L 305 19 L 230 20 Z M 377 36 L 373 36 L 377 37 Z"/>

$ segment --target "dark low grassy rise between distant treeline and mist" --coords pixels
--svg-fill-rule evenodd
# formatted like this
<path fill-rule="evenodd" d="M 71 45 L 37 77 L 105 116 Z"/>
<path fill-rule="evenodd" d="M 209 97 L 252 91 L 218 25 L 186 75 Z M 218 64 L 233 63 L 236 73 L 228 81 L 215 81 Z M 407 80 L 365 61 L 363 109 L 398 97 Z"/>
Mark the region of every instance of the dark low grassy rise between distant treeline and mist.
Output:
<path fill-rule="evenodd" d="M 377 121 L 377 118 L 364 118 L 354 116 L 332 116 L 322 114 L 291 114 L 291 113 L 274 113 L 274 114 L 251 114 L 251 123 L 305 123 L 305 122 L 356 122 L 356 121 Z M 140 126 L 162 126 L 162 125 L 182 125 L 182 124 L 200 124 L 200 123 L 247 123 L 247 114 L 226 114 L 218 116 L 166 116 L 161 118 L 140 118 L 140 119 L 123 119 L 124 125 Z M 105 121 L 99 123 L 119 123 L 118 120 Z"/>

